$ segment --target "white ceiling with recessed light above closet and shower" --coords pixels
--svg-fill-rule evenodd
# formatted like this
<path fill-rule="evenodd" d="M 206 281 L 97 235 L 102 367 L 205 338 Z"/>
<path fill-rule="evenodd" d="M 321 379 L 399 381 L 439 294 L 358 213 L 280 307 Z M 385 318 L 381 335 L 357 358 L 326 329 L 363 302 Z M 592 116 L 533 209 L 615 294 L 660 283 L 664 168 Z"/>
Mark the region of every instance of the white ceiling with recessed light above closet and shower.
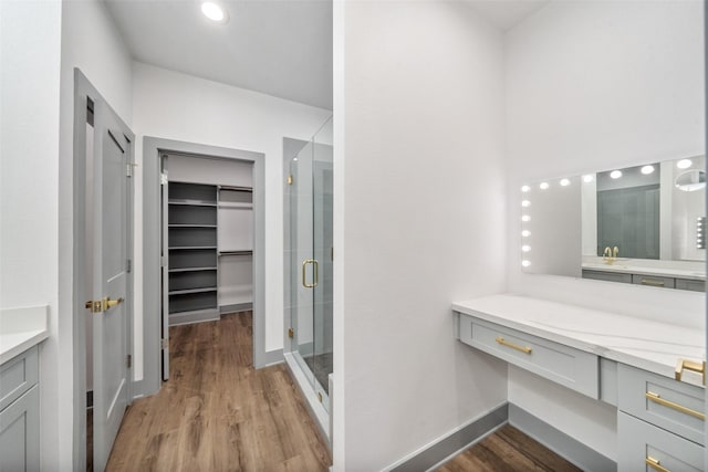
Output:
<path fill-rule="evenodd" d="M 133 57 L 332 109 L 332 2 L 223 0 L 209 22 L 197 0 L 105 0 Z"/>

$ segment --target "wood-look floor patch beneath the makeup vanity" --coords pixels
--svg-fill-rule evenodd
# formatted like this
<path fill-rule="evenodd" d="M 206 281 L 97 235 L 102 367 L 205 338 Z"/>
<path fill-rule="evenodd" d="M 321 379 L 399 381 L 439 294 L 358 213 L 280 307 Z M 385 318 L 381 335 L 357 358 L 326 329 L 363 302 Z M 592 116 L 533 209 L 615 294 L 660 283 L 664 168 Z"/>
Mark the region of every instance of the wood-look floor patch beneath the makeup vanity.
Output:
<path fill-rule="evenodd" d="M 436 472 L 581 472 L 512 426 L 504 426 L 457 454 Z"/>

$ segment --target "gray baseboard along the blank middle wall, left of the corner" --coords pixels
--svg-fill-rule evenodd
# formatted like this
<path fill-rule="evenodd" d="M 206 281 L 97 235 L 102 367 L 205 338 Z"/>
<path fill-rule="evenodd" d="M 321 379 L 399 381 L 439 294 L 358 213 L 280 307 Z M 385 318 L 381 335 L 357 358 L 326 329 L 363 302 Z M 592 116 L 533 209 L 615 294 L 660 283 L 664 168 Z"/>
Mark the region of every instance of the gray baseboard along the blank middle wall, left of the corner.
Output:
<path fill-rule="evenodd" d="M 446 433 L 385 470 L 391 472 L 419 472 L 429 471 L 441 465 L 448 459 L 504 426 L 509 418 L 508 405 L 504 402 L 487 413 L 473 418 L 467 424 Z"/>

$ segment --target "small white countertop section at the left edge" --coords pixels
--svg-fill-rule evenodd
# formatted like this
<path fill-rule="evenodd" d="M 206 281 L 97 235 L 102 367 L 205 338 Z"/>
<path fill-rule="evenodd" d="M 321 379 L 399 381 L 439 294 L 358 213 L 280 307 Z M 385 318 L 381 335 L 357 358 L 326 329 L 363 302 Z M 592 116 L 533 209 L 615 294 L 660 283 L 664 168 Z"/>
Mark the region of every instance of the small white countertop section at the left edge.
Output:
<path fill-rule="evenodd" d="M 0 310 L 0 365 L 49 337 L 49 307 Z"/>

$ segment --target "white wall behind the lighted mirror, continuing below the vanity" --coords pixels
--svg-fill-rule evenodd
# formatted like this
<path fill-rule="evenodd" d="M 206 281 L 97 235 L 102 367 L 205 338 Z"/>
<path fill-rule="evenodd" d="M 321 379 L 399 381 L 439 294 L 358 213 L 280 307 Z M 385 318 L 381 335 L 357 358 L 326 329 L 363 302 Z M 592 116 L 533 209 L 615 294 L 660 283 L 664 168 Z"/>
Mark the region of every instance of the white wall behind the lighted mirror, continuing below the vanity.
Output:
<path fill-rule="evenodd" d="M 696 0 L 550 2 L 507 35 L 508 289 L 702 328 L 704 294 L 521 272 L 520 186 L 704 154 Z M 612 417 L 510 369 L 509 400 L 615 459 Z M 571 398 L 572 397 L 572 398 Z M 579 415 L 549 415 L 559 405 Z"/>

